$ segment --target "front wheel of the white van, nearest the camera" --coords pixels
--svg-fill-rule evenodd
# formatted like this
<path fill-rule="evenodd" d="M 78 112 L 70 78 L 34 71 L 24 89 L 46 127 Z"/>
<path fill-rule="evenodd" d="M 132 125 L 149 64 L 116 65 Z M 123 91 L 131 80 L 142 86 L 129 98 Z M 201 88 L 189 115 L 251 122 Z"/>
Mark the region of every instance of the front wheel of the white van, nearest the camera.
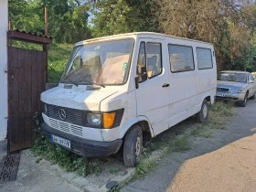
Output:
<path fill-rule="evenodd" d="M 143 149 L 143 132 L 139 125 L 134 125 L 126 133 L 123 143 L 123 163 L 127 167 L 134 167 Z"/>

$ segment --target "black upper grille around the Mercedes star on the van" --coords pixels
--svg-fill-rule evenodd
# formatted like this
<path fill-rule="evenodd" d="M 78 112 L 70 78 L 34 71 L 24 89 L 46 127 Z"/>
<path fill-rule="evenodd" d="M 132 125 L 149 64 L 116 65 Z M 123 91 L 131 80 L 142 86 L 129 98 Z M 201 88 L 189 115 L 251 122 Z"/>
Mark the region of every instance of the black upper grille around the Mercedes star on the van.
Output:
<path fill-rule="evenodd" d="M 76 109 L 70 109 L 66 107 L 59 107 L 56 105 L 47 105 L 48 108 L 48 117 L 57 119 L 59 121 L 64 121 L 66 123 L 72 123 L 77 125 L 83 125 L 83 116 L 85 116 L 85 112 L 81 110 Z M 66 119 L 61 120 L 59 117 L 59 110 L 63 109 L 66 113 Z"/>

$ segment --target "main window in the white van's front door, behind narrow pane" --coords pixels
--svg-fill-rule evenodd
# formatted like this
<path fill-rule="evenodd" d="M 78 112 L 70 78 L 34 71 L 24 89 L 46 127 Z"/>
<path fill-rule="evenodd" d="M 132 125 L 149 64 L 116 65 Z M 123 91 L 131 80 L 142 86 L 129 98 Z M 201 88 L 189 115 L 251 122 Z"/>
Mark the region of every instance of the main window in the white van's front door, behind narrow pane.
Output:
<path fill-rule="evenodd" d="M 146 73 L 153 78 L 162 72 L 162 53 L 160 43 L 146 43 Z"/>

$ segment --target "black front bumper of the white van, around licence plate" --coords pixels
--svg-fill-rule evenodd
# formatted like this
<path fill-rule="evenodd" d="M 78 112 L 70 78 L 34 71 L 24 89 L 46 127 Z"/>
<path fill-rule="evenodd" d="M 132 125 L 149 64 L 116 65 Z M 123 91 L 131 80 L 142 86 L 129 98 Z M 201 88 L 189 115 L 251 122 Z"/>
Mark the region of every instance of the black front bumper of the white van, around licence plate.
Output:
<path fill-rule="evenodd" d="M 71 145 L 70 151 L 87 157 L 103 157 L 115 154 L 123 143 L 122 139 L 117 139 L 112 142 L 99 142 L 83 139 L 69 133 L 59 132 L 48 126 L 47 123 L 41 123 L 41 129 L 49 140 L 51 140 L 51 134 L 68 139 Z"/>

